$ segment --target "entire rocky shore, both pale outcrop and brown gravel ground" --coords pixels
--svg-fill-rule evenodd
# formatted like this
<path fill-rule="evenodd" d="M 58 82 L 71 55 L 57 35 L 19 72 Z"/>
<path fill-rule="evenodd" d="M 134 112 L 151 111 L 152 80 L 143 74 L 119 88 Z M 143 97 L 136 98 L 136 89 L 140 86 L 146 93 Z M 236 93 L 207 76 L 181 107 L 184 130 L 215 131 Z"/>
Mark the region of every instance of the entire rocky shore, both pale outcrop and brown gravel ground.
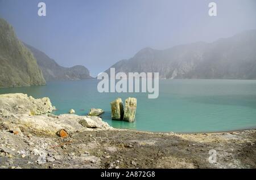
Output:
<path fill-rule="evenodd" d="M 256 168 L 256 130 L 140 132 L 53 109 L 49 98 L 0 95 L 0 168 Z"/>

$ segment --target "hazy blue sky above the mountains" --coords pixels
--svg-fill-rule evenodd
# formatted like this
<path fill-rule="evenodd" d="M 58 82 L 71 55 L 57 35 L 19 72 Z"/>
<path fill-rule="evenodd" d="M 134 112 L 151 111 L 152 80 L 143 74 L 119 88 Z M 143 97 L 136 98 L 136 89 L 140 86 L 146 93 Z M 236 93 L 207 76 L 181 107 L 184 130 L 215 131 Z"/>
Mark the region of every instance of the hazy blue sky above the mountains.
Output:
<path fill-rule="evenodd" d="M 45 2 L 47 16 L 38 16 Z M 208 15 L 209 2 L 217 16 Z M 0 16 L 20 40 L 65 67 L 92 75 L 145 47 L 167 49 L 256 29 L 255 0 L 0 0 Z"/>

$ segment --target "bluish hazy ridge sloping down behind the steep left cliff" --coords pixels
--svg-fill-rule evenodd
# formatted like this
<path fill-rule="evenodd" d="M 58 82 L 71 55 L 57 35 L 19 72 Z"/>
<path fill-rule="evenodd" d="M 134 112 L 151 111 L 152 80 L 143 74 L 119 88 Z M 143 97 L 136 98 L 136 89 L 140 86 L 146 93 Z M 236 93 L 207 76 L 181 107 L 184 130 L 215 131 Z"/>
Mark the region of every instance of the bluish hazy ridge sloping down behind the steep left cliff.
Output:
<path fill-rule="evenodd" d="M 25 45 L 34 54 L 34 57 L 38 61 L 38 65 L 43 72 L 44 79 L 46 79 L 47 82 L 55 80 L 80 80 L 92 78 L 89 70 L 84 66 L 73 66 L 70 68 L 62 67 L 40 50 L 35 49 L 30 45 Z"/>

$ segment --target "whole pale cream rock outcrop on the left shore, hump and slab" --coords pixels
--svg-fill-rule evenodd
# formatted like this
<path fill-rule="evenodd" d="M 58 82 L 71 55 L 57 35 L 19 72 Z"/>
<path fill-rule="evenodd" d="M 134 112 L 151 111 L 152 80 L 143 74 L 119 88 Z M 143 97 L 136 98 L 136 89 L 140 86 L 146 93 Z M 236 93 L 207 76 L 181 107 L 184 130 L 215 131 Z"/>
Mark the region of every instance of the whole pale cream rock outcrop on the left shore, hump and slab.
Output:
<path fill-rule="evenodd" d="M 49 98 L 34 99 L 23 94 L 0 95 L 0 110 L 0 126 L 13 131 L 16 135 L 23 133 L 26 136 L 29 134 L 55 136 L 60 130 L 65 130 L 61 131 L 61 134 L 65 135 L 65 132 L 72 134 L 77 131 L 112 128 L 96 116 L 60 114 L 56 117 L 49 114 L 52 110 Z M 31 115 L 31 112 L 34 112 L 34 115 Z M 85 121 L 85 126 L 80 123 L 82 120 Z"/>

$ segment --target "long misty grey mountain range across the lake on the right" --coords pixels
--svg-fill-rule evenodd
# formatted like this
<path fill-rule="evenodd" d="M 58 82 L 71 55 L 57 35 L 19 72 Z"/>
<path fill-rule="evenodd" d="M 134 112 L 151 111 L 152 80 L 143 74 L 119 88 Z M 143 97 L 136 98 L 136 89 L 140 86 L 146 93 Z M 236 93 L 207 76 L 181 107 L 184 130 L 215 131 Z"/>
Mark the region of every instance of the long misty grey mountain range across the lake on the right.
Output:
<path fill-rule="evenodd" d="M 115 72 L 159 72 L 161 79 L 256 79 L 256 30 L 212 43 L 145 48 L 112 67 Z"/>

